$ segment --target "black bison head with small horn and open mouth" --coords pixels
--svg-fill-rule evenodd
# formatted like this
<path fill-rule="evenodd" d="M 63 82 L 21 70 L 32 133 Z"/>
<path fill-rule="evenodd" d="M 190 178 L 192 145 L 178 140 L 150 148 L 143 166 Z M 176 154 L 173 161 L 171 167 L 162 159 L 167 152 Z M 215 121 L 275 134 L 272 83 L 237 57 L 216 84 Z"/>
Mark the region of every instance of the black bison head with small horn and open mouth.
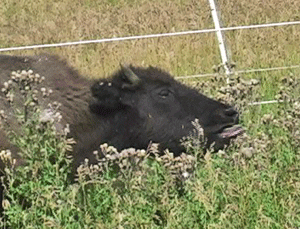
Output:
<path fill-rule="evenodd" d="M 179 155 L 184 150 L 180 140 L 193 131 L 195 119 L 204 129 L 206 147 L 213 144 L 215 150 L 242 132 L 233 107 L 154 67 L 123 66 L 112 78 L 96 82 L 91 91 L 90 110 L 106 120 L 101 141 L 118 149 L 146 148 L 152 141 Z"/>

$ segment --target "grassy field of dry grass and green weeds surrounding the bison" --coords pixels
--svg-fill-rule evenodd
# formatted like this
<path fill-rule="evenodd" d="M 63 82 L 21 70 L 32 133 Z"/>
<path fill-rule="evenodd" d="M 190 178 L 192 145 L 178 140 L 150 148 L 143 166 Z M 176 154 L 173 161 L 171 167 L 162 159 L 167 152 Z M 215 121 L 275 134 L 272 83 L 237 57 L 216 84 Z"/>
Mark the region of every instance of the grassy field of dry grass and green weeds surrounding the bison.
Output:
<path fill-rule="evenodd" d="M 300 20 L 298 0 L 219 0 L 219 8 L 224 26 Z M 207 28 L 214 25 L 206 0 L 0 2 L 0 48 Z M 299 25 L 226 32 L 226 41 L 235 70 L 299 65 Z M 109 76 L 120 62 L 158 66 L 175 76 L 213 73 L 221 63 L 213 33 L 2 54 L 45 52 L 67 59 L 90 78 Z M 128 162 L 118 174 L 109 163 L 98 174 L 86 167 L 75 184 L 67 181 L 64 138 L 57 141 L 50 128 L 45 136 L 33 134 L 25 147 L 19 136 L 16 141 L 28 152 L 42 142 L 44 156 L 57 162 L 36 163 L 41 156 L 33 156 L 29 166 L 9 173 L 2 226 L 300 228 L 300 69 L 236 75 L 226 92 L 222 74 L 180 80 L 236 105 L 246 134 L 215 154 L 203 156 L 189 147 L 196 161 L 188 179 L 174 175 L 161 159 L 147 158 L 138 165 Z M 248 105 L 273 99 L 284 102 Z"/>

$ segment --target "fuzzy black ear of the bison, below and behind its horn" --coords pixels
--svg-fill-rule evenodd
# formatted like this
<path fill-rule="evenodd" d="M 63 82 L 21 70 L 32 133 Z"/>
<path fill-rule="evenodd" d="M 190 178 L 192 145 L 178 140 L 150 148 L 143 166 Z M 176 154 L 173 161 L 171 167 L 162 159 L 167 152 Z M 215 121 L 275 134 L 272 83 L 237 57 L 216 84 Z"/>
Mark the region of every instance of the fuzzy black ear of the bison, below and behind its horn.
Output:
<path fill-rule="evenodd" d="M 93 113 L 107 115 L 123 106 L 120 99 L 120 90 L 111 82 L 97 82 L 91 87 L 91 92 L 92 99 L 89 108 Z"/>

